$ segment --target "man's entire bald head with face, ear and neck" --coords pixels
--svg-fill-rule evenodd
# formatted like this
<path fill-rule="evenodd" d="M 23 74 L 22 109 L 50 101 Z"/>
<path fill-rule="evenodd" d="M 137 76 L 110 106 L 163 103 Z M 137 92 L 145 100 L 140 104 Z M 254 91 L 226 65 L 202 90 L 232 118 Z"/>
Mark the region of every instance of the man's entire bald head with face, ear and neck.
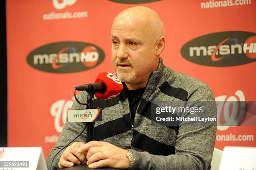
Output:
<path fill-rule="evenodd" d="M 131 7 L 116 16 L 111 29 L 111 58 L 118 78 L 133 90 L 146 86 L 164 50 L 163 24 L 154 10 Z"/>

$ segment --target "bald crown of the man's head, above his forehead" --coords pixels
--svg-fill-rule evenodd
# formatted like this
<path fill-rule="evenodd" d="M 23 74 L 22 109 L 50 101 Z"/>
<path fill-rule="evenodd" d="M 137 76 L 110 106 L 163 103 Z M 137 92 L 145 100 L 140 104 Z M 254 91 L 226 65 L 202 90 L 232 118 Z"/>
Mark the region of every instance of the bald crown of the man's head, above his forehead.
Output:
<path fill-rule="evenodd" d="M 143 6 L 131 7 L 119 13 L 113 27 L 135 26 L 141 28 L 144 33 L 151 35 L 154 40 L 164 35 L 164 28 L 159 15 L 152 9 Z"/>

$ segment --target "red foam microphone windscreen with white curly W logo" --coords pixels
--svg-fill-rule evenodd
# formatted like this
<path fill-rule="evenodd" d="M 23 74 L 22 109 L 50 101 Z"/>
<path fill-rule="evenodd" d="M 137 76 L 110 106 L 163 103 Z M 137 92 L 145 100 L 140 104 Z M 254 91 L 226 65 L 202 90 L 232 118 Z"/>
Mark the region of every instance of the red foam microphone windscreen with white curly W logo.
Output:
<path fill-rule="evenodd" d="M 123 90 L 122 82 L 118 79 L 118 77 L 116 77 L 116 75 L 110 72 L 100 73 L 95 80 L 95 83 L 97 82 L 103 82 L 107 87 L 107 90 L 105 93 L 101 94 L 97 92 L 95 94 L 95 96 L 100 99 L 113 98 Z"/>

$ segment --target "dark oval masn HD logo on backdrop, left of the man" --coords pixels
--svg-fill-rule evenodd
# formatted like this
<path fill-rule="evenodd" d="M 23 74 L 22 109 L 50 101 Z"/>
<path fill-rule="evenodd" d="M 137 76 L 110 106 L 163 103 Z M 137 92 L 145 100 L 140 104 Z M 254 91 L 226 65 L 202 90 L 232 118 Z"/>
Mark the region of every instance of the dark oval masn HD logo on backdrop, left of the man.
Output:
<path fill-rule="evenodd" d="M 89 70 L 104 60 L 100 47 L 85 42 L 56 42 L 36 48 L 27 62 L 37 70 L 69 73 Z"/>

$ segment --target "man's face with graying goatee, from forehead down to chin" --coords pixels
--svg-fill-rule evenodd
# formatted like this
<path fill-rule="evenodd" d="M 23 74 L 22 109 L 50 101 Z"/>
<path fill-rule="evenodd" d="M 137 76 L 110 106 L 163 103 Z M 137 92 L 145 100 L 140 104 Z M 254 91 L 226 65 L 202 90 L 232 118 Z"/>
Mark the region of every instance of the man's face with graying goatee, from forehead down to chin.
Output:
<path fill-rule="evenodd" d="M 156 39 L 145 25 L 114 22 L 112 26 L 112 64 L 118 78 L 129 84 L 148 80 L 156 70 Z"/>

